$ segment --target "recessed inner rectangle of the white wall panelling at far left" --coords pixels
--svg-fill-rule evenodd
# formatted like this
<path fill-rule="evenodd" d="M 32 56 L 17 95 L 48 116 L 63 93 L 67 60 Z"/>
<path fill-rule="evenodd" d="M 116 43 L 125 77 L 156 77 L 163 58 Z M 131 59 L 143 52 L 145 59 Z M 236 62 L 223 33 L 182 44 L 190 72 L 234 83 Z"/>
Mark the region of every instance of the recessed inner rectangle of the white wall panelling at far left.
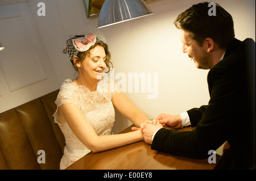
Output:
<path fill-rule="evenodd" d="M 34 40 L 23 17 L 0 20 L 0 32 L 6 47 L 0 52 L 0 66 L 10 91 L 45 79 Z"/>

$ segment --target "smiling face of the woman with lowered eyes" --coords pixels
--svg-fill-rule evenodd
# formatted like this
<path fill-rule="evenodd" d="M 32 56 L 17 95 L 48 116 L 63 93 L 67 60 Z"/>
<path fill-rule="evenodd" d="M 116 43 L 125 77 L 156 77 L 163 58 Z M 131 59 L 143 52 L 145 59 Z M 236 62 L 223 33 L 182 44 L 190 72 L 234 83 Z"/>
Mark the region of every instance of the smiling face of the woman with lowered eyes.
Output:
<path fill-rule="evenodd" d="M 79 74 L 87 78 L 98 79 L 102 77 L 102 73 L 106 69 L 106 53 L 105 49 L 100 45 L 90 50 L 85 59 L 79 63 Z"/>

